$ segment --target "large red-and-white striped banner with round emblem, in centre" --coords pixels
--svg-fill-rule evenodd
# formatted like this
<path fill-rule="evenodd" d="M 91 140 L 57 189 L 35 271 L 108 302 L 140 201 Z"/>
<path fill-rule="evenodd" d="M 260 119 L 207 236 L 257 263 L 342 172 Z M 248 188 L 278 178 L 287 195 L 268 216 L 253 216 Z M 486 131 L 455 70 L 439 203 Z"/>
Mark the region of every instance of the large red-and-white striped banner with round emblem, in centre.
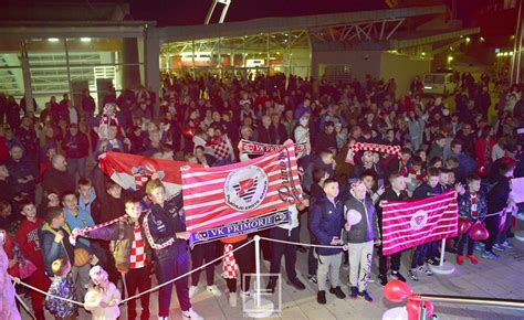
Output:
<path fill-rule="evenodd" d="M 291 140 L 285 146 L 244 162 L 182 172 L 187 231 L 196 233 L 298 203 L 295 147 Z"/>

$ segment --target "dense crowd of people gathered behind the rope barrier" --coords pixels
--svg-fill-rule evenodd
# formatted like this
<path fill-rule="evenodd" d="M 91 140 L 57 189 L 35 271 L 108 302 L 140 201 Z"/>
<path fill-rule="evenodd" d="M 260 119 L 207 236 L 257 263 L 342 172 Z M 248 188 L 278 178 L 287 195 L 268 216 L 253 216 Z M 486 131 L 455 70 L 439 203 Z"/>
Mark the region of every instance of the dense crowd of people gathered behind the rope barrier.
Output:
<path fill-rule="evenodd" d="M 153 275 L 161 284 L 223 253 L 229 257 L 222 263 L 228 300 L 237 307 L 239 275 L 240 295 L 250 296 L 250 278 L 242 275 L 254 270 L 253 246 L 241 246 L 251 235 L 189 249 L 181 195 L 167 200 L 155 178 L 143 190 L 123 190 L 90 160 L 109 150 L 209 167 L 253 158 L 239 154 L 237 148 L 234 154 L 216 154 L 209 145 L 223 137 L 232 146 L 240 139 L 271 145 L 292 139 L 306 146 L 305 157 L 298 159 L 303 201 L 289 209 L 289 223 L 262 233 L 323 247 L 306 250 L 263 242 L 262 252 L 272 274 L 280 273 L 285 257 L 289 282 L 297 290 L 305 289 L 296 271 L 297 252 L 307 253 L 307 281 L 317 286 L 321 305 L 326 303 L 327 290 L 346 297 L 340 268 L 349 270 L 349 297 L 373 301 L 367 282 L 374 257 L 378 256 L 381 285 L 391 278 L 423 281 L 432 275 L 428 264 L 440 263 L 436 243 L 382 255 L 381 201 L 426 199 L 454 189 L 459 215 L 482 221 L 489 238 L 475 243 L 461 234 L 447 249 L 459 265 L 464 264 L 464 249 L 471 264 L 480 263 L 479 255 L 497 259 L 513 248 L 509 238 L 518 206 L 512 200 L 511 179 L 523 174 L 518 128 L 524 125 L 524 94 L 514 85 L 492 106 L 490 85 L 486 77 L 475 82 L 463 76 L 454 108 L 442 97 L 423 96 L 417 79 L 410 92 L 399 95 L 395 81 L 370 76 L 329 83 L 282 74 L 165 75 L 159 97 L 144 87 L 119 95 L 113 89 L 99 110 L 88 90 L 77 106 L 64 94 L 61 102 L 51 97 L 38 113 L 28 110 L 24 100 L 18 105 L 0 95 L 0 228 L 9 274 L 85 302 L 95 318 L 116 319 L 118 279 L 126 285 L 125 295 L 134 296 L 151 287 Z M 493 107 L 496 115 L 489 118 Z M 355 142 L 400 146 L 400 157 L 361 151 L 346 161 Z M 349 211 L 360 213 L 360 222 L 348 224 Z M 118 217 L 123 218 L 104 228 L 80 232 Z M 308 237 L 301 236 L 301 227 L 307 228 Z M 77 241 L 70 242 L 71 235 Z M 410 255 L 406 276 L 402 255 Z M 220 297 L 216 268 L 217 264 L 205 268 L 206 290 Z M 185 319 L 200 319 L 190 302 L 199 291 L 199 277 L 197 271 L 175 281 Z M 270 291 L 276 281 L 269 279 Z M 159 290 L 160 319 L 169 316 L 171 291 L 172 286 Z M 36 319 L 44 319 L 44 308 L 56 319 L 77 314 L 71 302 L 28 294 Z M 135 300 L 127 303 L 128 319 L 136 319 Z M 148 294 L 140 297 L 140 319 L 149 319 Z"/>

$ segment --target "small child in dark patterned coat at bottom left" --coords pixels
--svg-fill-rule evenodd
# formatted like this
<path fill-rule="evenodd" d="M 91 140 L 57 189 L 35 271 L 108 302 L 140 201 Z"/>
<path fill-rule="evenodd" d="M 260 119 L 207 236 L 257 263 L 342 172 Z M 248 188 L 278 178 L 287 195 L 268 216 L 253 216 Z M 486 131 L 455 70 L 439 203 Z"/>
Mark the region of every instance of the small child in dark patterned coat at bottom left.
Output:
<path fill-rule="evenodd" d="M 48 294 L 56 297 L 75 300 L 75 288 L 71 279 L 71 264 L 67 259 L 55 259 L 52 263 L 54 275 L 53 282 Z M 56 320 L 76 319 L 77 307 L 75 303 L 57 299 L 55 297 L 45 297 L 45 308 L 54 316 Z"/>

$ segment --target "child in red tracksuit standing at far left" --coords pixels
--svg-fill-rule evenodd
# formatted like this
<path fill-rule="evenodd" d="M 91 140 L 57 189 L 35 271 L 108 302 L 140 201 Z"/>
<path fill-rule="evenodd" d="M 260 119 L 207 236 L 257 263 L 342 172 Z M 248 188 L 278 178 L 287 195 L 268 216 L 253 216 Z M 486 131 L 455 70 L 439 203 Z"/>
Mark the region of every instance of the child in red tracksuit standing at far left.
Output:
<path fill-rule="evenodd" d="M 25 216 L 25 220 L 20 224 L 17 232 L 15 243 L 18 244 L 23 257 L 36 267 L 36 270 L 27 279 L 27 281 L 42 291 L 48 291 L 51 281 L 44 273 L 42 250 L 38 235 L 39 228 L 44 223 L 43 218 L 36 216 L 36 206 L 34 206 L 34 203 L 29 199 L 20 202 L 20 209 L 22 211 L 21 214 Z M 45 319 L 43 311 L 44 296 L 34 290 L 30 290 L 30 295 L 31 305 L 36 320 Z"/>

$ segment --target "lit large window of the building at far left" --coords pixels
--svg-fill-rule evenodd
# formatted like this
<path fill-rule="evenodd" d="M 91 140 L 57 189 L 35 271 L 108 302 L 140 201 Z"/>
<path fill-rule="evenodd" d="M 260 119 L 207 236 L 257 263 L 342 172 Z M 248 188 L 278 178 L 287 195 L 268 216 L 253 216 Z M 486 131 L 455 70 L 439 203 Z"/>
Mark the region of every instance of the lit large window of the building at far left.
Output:
<path fill-rule="evenodd" d="M 117 94 L 144 83 L 143 39 L 48 38 L 6 41 L 0 44 L 0 92 L 17 100 L 24 94 L 21 51 L 25 50 L 33 97 L 39 110 L 51 96 L 72 94 L 80 106 L 88 89 L 102 100 L 108 87 Z M 99 106 L 101 107 L 101 106 Z"/>

